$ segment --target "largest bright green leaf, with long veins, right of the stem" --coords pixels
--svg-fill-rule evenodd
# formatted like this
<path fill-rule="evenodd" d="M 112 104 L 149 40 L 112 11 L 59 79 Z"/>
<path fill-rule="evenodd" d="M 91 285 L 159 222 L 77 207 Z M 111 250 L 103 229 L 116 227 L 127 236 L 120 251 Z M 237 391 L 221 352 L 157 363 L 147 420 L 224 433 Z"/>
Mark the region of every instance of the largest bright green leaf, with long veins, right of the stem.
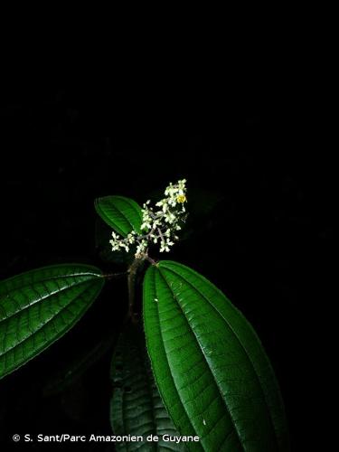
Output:
<path fill-rule="evenodd" d="M 144 283 L 146 344 L 155 381 L 194 451 L 288 448 L 278 383 L 257 334 L 210 281 L 161 261 Z"/>

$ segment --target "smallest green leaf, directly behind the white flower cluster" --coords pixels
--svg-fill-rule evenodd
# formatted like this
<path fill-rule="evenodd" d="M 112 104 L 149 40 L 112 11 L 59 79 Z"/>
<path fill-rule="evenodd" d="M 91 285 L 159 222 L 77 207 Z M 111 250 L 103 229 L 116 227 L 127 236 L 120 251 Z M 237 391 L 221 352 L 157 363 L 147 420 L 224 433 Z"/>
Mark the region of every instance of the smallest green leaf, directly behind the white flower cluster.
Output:
<path fill-rule="evenodd" d="M 135 230 L 140 232 L 142 212 L 137 202 L 123 196 L 105 196 L 95 200 L 95 209 L 108 226 L 126 237 Z"/>

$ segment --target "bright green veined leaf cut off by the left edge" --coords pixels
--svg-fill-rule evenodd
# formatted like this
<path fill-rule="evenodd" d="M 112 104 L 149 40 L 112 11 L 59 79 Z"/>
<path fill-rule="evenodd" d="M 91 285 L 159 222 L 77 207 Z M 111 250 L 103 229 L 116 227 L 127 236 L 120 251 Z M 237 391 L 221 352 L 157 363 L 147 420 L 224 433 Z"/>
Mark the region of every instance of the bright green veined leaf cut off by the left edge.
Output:
<path fill-rule="evenodd" d="M 104 284 L 99 268 L 37 268 L 0 282 L 0 378 L 71 329 Z"/>

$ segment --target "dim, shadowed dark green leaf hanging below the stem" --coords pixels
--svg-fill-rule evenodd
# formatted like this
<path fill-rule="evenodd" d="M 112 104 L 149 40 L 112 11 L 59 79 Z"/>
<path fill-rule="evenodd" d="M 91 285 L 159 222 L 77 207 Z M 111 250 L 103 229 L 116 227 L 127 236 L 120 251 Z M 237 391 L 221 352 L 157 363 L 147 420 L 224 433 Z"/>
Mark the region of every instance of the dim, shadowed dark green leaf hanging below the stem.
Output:
<path fill-rule="evenodd" d="M 121 333 L 111 366 L 114 385 L 110 420 L 115 435 L 140 435 L 144 441 L 116 443 L 117 450 L 184 450 L 183 444 L 164 441 L 178 436 L 168 417 L 146 353 L 145 335 L 139 325 L 127 325 Z M 156 435 L 159 442 L 147 442 Z"/>

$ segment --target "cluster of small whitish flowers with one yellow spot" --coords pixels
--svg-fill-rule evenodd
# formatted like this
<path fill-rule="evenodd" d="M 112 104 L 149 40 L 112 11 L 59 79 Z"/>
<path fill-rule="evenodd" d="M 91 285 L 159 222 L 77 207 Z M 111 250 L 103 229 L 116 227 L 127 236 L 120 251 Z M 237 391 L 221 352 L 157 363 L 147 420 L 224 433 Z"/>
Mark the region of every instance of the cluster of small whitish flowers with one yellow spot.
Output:
<path fill-rule="evenodd" d="M 136 258 L 141 259 L 147 254 L 150 243 L 159 244 L 160 252 L 168 252 L 174 245 L 174 240 L 178 240 L 176 231 L 181 229 L 180 221 L 184 218 L 186 200 L 186 180 L 178 181 L 177 184 L 169 184 L 165 189 L 165 198 L 156 202 L 155 207 L 151 207 L 148 200 L 142 209 L 141 234 L 131 231 L 125 239 L 119 237 L 116 232 L 112 232 L 112 250 L 124 249 L 127 252 L 129 247 L 137 244 Z"/>

